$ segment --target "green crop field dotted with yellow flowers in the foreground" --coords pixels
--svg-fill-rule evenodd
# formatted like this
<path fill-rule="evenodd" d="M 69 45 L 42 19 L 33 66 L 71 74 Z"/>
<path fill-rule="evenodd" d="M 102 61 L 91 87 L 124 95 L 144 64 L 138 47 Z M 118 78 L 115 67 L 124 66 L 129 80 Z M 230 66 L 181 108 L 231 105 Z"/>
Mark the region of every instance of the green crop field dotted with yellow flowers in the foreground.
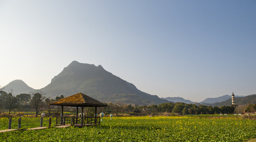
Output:
<path fill-rule="evenodd" d="M 5 119 L 8 122 L 7 118 L 0 119 L 0 123 Z M 33 121 L 35 118 L 28 119 Z M 1 125 L 0 129 L 6 129 L 6 126 Z M 256 120 L 243 120 L 237 117 L 115 117 L 113 120 L 104 118 L 101 125 L 96 127 L 0 133 L 0 141 L 12 142 L 243 142 L 251 138 L 256 138 Z"/>

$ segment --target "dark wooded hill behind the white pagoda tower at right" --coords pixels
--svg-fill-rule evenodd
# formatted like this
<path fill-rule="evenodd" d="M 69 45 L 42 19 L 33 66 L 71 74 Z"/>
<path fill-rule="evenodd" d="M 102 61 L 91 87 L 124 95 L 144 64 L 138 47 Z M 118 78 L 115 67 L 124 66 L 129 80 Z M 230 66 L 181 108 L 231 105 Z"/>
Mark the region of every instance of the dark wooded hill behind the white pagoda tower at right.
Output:
<path fill-rule="evenodd" d="M 236 97 L 236 96 L 235 96 Z M 248 95 L 245 97 L 236 97 L 235 98 L 236 105 L 250 105 L 250 104 L 256 104 L 256 94 Z M 214 104 L 204 104 L 204 105 L 211 105 L 212 107 L 218 106 L 221 107 L 223 105 L 232 105 L 231 98 L 227 99 L 226 101 L 222 101 L 219 103 Z"/>

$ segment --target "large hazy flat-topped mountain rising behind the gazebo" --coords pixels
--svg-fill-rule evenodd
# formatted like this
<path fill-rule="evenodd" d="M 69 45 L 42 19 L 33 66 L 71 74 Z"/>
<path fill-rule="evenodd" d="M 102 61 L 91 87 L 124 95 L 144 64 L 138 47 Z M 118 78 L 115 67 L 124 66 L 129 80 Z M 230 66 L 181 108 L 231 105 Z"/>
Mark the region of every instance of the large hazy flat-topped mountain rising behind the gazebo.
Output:
<path fill-rule="evenodd" d="M 157 95 L 142 92 L 133 84 L 106 71 L 101 65 L 71 62 L 50 84 L 40 89 L 52 98 L 82 92 L 104 103 L 152 105 L 167 103 Z"/>

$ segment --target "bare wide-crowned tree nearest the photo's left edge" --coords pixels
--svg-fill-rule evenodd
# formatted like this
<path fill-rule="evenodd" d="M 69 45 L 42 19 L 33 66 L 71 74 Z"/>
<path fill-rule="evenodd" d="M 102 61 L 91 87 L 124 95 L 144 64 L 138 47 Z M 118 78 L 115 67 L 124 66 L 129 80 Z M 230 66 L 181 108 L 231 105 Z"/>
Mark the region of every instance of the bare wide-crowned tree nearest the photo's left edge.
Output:
<path fill-rule="evenodd" d="M 4 102 L 5 107 L 9 110 L 8 117 L 10 116 L 10 112 L 17 108 L 19 105 L 18 99 L 12 95 L 12 93 L 1 93 L 2 101 Z"/>

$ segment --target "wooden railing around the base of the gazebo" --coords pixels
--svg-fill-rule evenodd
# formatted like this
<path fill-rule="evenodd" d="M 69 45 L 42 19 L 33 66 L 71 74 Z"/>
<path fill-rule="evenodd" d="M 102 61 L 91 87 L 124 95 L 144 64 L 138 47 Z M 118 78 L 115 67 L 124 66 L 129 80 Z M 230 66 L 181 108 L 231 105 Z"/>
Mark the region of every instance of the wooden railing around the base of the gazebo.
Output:
<path fill-rule="evenodd" d="M 81 124 L 82 117 L 57 117 L 56 125 Z M 83 125 L 100 125 L 100 117 L 83 117 Z"/>

